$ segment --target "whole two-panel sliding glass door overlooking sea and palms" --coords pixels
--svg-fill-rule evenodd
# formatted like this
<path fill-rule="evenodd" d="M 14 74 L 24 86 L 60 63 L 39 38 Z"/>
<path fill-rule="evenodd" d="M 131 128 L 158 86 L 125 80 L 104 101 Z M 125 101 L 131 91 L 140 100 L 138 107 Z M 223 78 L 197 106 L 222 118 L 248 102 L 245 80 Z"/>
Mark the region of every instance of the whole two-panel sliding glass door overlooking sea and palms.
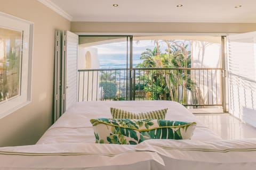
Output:
<path fill-rule="evenodd" d="M 222 108 L 220 36 L 79 36 L 78 101 Z"/>

